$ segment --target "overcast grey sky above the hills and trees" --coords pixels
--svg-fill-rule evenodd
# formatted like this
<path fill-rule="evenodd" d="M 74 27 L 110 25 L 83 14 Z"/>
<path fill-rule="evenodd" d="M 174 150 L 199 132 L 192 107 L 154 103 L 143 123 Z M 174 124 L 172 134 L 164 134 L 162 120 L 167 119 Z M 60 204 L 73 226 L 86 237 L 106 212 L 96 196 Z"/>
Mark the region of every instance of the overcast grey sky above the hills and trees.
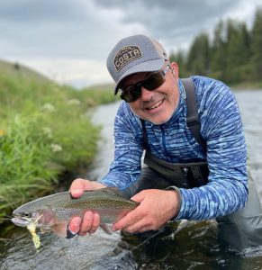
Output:
<path fill-rule="evenodd" d="M 73 85 L 112 82 L 113 46 L 147 34 L 168 51 L 186 49 L 219 20 L 253 23 L 261 0 L 0 0 L 0 58 Z"/>

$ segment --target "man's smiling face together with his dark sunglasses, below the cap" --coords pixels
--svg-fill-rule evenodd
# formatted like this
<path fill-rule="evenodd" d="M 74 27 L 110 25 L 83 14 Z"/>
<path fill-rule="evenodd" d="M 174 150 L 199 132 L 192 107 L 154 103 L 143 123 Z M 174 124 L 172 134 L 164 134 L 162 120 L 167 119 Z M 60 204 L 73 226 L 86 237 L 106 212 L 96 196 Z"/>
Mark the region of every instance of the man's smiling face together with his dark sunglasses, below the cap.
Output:
<path fill-rule="evenodd" d="M 176 63 L 167 64 L 163 69 L 158 72 L 147 73 L 141 72 L 131 75 L 123 80 L 122 86 L 122 99 L 130 103 L 131 110 L 145 121 L 150 121 L 154 124 L 162 124 L 168 121 L 174 113 L 178 102 L 178 85 L 176 77 L 170 72 L 177 75 Z M 158 78 L 159 77 L 159 78 Z M 155 81 L 157 85 L 154 85 Z M 165 88 L 156 86 L 162 85 L 165 81 Z M 153 89 L 149 89 L 153 84 Z M 141 91 L 141 88 L 144 88 Z M 137 99 L 133 100 L 133 94 Z"/>

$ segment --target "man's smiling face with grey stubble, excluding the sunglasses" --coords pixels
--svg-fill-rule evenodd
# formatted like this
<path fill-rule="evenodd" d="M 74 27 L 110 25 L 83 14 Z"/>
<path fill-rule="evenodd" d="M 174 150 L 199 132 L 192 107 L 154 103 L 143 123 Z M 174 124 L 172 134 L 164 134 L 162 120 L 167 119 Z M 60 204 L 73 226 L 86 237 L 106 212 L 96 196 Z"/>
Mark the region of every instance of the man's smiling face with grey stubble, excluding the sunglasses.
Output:
<path fill-rule="evenodd" d="M 167 122 L 175 112 L 179 98 L 177 88 L 178 68 L 175 62 L 172 62 L 170 67 L 174 73 L 170 68 L 168 69 L 166 81 L 163 85 L 151 91 L 142 86 L 140 98 L 129 103 L 132 112 L 141 119 L 154 124 L 162 124 Z M 147 76 L 149 76 L 149 73 L 134 74 L 125 80 L 123 86 L 136 84 Z"/>

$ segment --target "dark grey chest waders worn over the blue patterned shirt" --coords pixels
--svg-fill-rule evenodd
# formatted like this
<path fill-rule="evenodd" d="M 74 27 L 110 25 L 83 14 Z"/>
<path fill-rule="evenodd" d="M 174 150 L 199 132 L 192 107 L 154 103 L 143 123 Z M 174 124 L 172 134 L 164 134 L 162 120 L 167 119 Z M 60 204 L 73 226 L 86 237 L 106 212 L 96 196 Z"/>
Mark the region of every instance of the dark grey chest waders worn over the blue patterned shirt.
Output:
<path fill-rule="evenodd" d="M 206 144 L 200 135 L 197 104 L 195 101 L 194 84 L 191 79 L 182 80 L 185 86 L 187 118 L 186 123 L 194 139 L 205 149 Z M 207 162 L 200 160 L 194 163 L 173 164 L 155 157 L 149 149 L 145 123 L 141 120 L 143 143 L 146 149 L 142 173 L 138 181 L 136 193 L 144 189 L 165 189 L 168 186 L 192 188 L 207 184 Z M 248 247 L 262 246 L 262 209 L 257 196 L 253 179 L 248 175 L 248 202 L 246 206 L 230 215 L 216 218 L 218 221 L 218 237 L 221 243 L 243 251 Z"/>

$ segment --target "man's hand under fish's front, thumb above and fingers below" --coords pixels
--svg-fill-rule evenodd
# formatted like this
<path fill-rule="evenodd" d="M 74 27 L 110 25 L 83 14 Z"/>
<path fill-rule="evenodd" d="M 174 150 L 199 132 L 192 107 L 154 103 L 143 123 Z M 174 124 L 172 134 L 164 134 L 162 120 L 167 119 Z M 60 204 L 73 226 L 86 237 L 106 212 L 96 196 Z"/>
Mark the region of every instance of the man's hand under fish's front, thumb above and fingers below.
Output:
<path fill-rule="evenodd" d="M 104 184 L 78 178 L 70 186 L 70 193 L 73 197 L 79 198 L 85 190 L 94 190 L 106 187 Z M 72 235 L 78 234 L 85 236 L 86 233 L 94 233 L 100 225 L 100 216 L 93 211 L 86 211 L 83 220 L 80 217 L 74 217 L 68 224 L 68 229 Z"/>

